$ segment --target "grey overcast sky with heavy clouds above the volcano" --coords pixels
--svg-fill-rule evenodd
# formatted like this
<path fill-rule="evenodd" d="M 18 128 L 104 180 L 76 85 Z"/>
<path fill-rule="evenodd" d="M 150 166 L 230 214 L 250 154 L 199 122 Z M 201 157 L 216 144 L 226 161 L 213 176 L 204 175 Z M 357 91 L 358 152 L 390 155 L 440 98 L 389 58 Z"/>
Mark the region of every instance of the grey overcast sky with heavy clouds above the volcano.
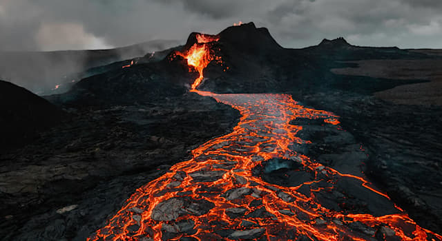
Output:
<path fill-rule="evenodd" d="M 0 50 L 113 48 L 238 21 L 286 48 L 344 36 L 354 45 L 442 48 L 442 0 L 0 0 Z"/>

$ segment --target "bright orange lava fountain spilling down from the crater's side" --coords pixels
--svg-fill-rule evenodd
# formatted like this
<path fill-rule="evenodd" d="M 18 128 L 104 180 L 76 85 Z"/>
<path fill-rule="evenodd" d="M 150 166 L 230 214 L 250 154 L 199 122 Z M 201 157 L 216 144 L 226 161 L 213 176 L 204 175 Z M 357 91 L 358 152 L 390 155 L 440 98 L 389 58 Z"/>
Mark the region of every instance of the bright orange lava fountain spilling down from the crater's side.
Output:
<path fill-rule="evenodd" d="M 220 57 L 215 56 L 209 48 L 209 43 L 219 40 L 218 36 L 212 36 L 209 34 L 196 34 L 197 43 L 184 53 L 178 52 L 177 54 L 187 60 L 187 64 L 198 71 L 200 76 L 193 81 L 191 90 L 196 90 L 196 87 L 200 85 L 204 79 L 203 70 L 213 60 L 221 61 Z"/>

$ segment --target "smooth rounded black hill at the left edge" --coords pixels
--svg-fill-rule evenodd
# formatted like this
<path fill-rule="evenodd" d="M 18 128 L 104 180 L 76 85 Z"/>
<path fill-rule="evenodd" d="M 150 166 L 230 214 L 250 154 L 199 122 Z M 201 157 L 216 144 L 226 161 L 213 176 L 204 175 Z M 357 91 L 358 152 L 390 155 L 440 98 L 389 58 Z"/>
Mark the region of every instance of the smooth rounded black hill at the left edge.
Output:
<path fill-rule="evenodd" d="M 0 80 L 0 149 L 23 145 L 64 115 L 44 98 Z"/>

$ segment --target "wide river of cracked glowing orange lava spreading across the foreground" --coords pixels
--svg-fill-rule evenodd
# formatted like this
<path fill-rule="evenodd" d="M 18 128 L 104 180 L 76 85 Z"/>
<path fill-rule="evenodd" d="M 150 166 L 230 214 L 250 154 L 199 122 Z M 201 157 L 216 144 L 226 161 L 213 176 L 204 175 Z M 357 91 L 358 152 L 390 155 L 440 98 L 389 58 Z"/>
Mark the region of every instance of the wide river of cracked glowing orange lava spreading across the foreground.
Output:
<path fill-rule="evenodd" d="M 287 94 L 195 92 L 240 111 L 233 132 L 209 140 L 192 151 L 191 160 L 137 189 L 88 240 L 441 240 L 398 207 L 374 216 L 334 211 L 316 200 L 347 178 L 390 202 L 363 174 L 342 174 L 289 148 L 309 143 L 297 137 L 302 126 L 291 120 L 322 119 L 339 128 L 338 116 L 303 107 Z M 314 178 L 281 187 L 253 174 L 273 158 L 296 162 Z M 328 185 L 315 185 L 321 182 Z M 306 185 L 309 195 L 299 191 Z"/>

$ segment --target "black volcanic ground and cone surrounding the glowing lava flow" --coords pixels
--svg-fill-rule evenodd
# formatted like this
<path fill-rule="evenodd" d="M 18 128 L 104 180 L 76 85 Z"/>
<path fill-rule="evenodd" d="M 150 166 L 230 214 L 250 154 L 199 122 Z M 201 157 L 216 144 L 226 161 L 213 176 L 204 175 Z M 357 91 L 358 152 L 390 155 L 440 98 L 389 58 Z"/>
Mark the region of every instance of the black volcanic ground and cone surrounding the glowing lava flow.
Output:
<path fill-rule="evenodd" d="M 166 50 L 153 59 L 151 54 L 143 53 L 125 61 L 115 60 L 122 62 L 94 65 L 86 78 L 73 83 L 64 94 L 41 98 L 0 81 L 1 240 L 86 240 L 106 226 L 106 221 L 122 209 L 138 188 L 170 174 L 172 165 L 191 159 L 191 150 L 233 131 L 241 121 L 237 109 L 189 92 L 198 72 L 192 67 L 189 71 L 186 59 L 176 51 L 189 50 L 197 43 L 196 36 L 197 33 L 191 34 L 186 45 Z M 282 189 L 312 181 L 318 176 L 314 174 L 327 176 L 324 166 L 341 173 L 362 171 L 417 224 L 442 233 L 441 103 L 427 101 L 426 105 L 418 105 L 415 98 L 429 98 L 424 91 L 414 93 L 408 103 L 401 89 L 432 83 L 435 97 L 430 99 L 439 99 L 441 92 L 438 95 L 436 90 L 441 89 L 437 82 L 440 55 L 428 50 L 354 46 L 343 38 L 324 39 L 309 48 L 286 49 L 266 28 L 256 28 L 253 23 L 229 27 L 217 36 L 219 40 L 210 45 L 222 63 L 209 63 L 198 90 L 288 94 L 301 105 L 339 116 L 341 129 L 320 118 L 296 118 L 290 122 L 302 127 L 297 135 L 311 140 L 311 144 L 287 148 L 308 156 L 322 168 L 309 172 L 299 163 L 274 158 L 251 170 L 253 176 Z M 390 63 L 397 71 L 385 74 L 378 71 L 378 63 Z M 413 70 L 403 67 L 409 71 L 403 76 L 401 63 L 431 64 Z M 124 65 L 130 66 L 122 68 Z M 391 92 L 400 98 L 389 98 Z M 262 147 L 266 148 L 271 146 Z M 193 179 L 200 178 L 200 182 L 214 182 L 217 175 L 222 176 L 198 175 Z M 173 178 L 181 183 L 184 176 Z M 241 178 L 236 179 L 236 184 L 245 183 L 242 182 Z M 311 193 L 327 183 L 313 183 L 300 193 Z M 253 183 L 247 185 L 253 187 Z M 397 211 L 390 200 L 376 199 L 377 194 L 367 193 L 354 182 L 340 180 L 336 188 L 338 191 L 311 198 L 329 210 L 343 213 L 382 216 Z M 207 192 L 211 191 L 224 190 Z M 281 190 L 273 191 L 283 200 L 290 200 Z M 235 202 L 253 194 L 256 192 L 251 189 L 231 189 L 224 196 Z M 163 240 L 195 240 L 189 236 L 197 224 L 175 223 L 177 217 L 162 218 L 167 209 L 174 210 L 175 206 L 201 213 L 213 207 L 203 201 L 192 207 L 185 198 L 167 203 L 170 206 L 163 205 L 166 210 L 158 214 L 158 219 L 166 220 L 170 226 L 161 229 Z M 244 220 L 244 225 L 238 230 L 214 231 L 213 240 L 267 240 L 258 222 L 247 220 L 271 219 L 273 214 L 262 209 L 262 202 L 247 205 L 251 211 L 238 208 L 226 213 L 232 219 Z M 292 214 L 285 210 L 285 215 Z M 322 225 L 323 221 L 316 218 L 311 222 Z M 333 222 L 338 225 L 340 221 Z M 367 240 L 397 240 L 388 227 L 352 224 L 345 228 L 363 233 Z M 222 225 L 213 223 L 211 227 Z M 275 234 L 278 235 L 279 240 L 318 240 L 307 235 L 287 238 L 287 233 Z M 434 237 L 429 236 L 428 240 Z"/>

